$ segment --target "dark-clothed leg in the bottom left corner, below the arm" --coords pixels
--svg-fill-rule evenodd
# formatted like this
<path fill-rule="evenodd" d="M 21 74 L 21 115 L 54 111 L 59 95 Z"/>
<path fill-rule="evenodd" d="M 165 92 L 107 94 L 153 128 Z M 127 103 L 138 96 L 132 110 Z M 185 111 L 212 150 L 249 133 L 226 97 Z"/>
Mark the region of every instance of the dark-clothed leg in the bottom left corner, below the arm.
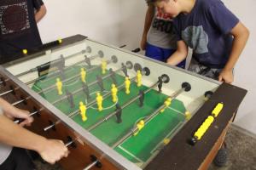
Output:
<path fill-rule="evenodd" d="M 27 155 L 26 150 L 13 148 L 6 161 L 0 165 L 3 170 L 33 170 L 35 169 L 31 158 Z"/>

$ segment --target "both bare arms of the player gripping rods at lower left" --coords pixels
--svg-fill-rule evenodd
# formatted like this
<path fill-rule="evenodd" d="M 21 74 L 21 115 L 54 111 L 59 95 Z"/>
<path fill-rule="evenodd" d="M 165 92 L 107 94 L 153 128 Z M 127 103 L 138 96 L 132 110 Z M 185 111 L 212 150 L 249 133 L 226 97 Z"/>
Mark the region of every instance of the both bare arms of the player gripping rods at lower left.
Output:
<path fill-rule="evenodd" d="M 26 121 L 31 119 L 28 111 L 20 110 L 0 98 L 0 142 L 28 150 L 37 151 L 45 161 L 55 163 L 61 157 L 67 156 L 67 147 L 61 140 L 45 139 L 36 133 L 32 133 L 24 127 L 15 124 L 10 118 L 20 117 Z M 26 122 L 25 121 L 25 122 Z M 27 122 L 31 123 L 31 122 Z M 26 124 L 27 124 L 26 123 Z"/>

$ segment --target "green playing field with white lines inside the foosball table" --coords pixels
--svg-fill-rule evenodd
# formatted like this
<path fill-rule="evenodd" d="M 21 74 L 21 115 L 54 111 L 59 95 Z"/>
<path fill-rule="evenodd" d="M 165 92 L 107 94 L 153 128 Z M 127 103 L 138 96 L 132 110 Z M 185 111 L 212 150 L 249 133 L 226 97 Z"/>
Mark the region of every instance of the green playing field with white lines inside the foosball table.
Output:
<path fill-rule="evenodd" d="M 80 74 L 80 67 L 86 66 L 80 65 L 69 70 L 65 71 L 65 77 L 73 77 Z M 90 84 L 91 82 L 96 81 L 96 76 L 105 76 L 102 75 L 101 68 L 97 68 L 94 71 L 88 71 L 86 76 L 86 82 Z M 108 75 L 108 72 L 107 74 Z M 44 79 L 38 80 L 35 82 L 32 89 L 36 92 L 48 88 L 55 84 L 56 77 L 45 77 Z M 60 77 L 61 78 L 61 77 Z M 125 77 L 116 75 L 117 87 L 122 85 L 125 82 Z M 65 81 L 65 80 L 62 80 Z M 157 82 L 157 80 L 155 80 Z M 105 91 L 101 94 L 107 94 L 111 89 L 112 79 L 110 77 L 103 80 Z M 152 82 L 154 84 L 154 82 Z M 64 97 L 65 90 L 68 89 L 69 92 L 74 92 L 82 88 L 82 82 L 80 81 L 80 76 L 75 79 L 63 82 L 63 94 L 60 96 L 57 94 L 57 89 L 53 88 L 41 95 L 44 99 L 47 99 L 49 103 L 55 102 L 55 100 Z M 90 100 L 87 101 L 84 91 L 81 90 L 78 94 L 73 95 L 73 100 L 75 107 L 71 108 L 70 103 L 67 99 L 63 99 L 61 102 L 55 104 L 55 107 L 61 110 L 64 114 L 68 115 L 73 111 L 79 110 L 79 102 L 83 101 L 85 104 L 90 103 L 96 99 L 96 92 L 100 91 L 100 88 L 97 84 L 90 86 Z M 137 88 L 136 82 L 131 82 L 131 94 L 125 94 L 125 88 L 120 88 L 118 92 L 118 103 L 120 106 L 124 105 L 127 101 L 135 98 L 139 94 L 139 90 L 145 90 L 148 87 L 142 86 Z M 98 139 L 101 139 L 104 143 L 108 144 L 110 147 L 119 141 L 126 133 L 131 132 L 133 127 L 136 127 L 138 121 L 145 119 L 147 116 L 152 114 L 157 110 L 160 105 L 163 105 L 167 96 L 165 94 L 160 94 L 156 90 L 150 90 L 148 94 L 145 94 L 144 105 L 139 107 L 139 100 L 131 103 L 123 109 L 122 111 L 122 122 L 117 123 L 116 116 L 110 118 L 107 122 L 103 122 L 98 127 L 90 131 Z M 103 111 L 97 111 L 97 105 L 91 105 L 87 108 L 86 116 L 87 121 L 83 122 L 79 113 L 76 116 L 73 116 L 73 121 L 79 123 L 80 126 L 85 129 L 91 127 L 96 122 L 101 120 L 103 117 L 108 116 L 109 114 L 115 111 L 115 103 L 112 101 L 111 94 L 108 95 L 106 99 L 103 100 Z M 131 136 L 126 139 L 123 143 L 120 143 L 119 146 L 114 148 L 119 154 L 125 156 L 130 161 L 137 163 L 138 166 L 142 166 L 145 161 L 154 155 L 154 152 L 160 150 L 163 147 L 164 139 L 169 139 L 172 137 L 172 134 L 175 132 L 177 127 L 181 126 L 185 120 L 183 115 L 185 107 L 183 102 L 173 99 L 170 107 L 162 113 L 159 113 L 157 116 L 154 116 L 152 120 L 146 123 L 143 129 L 136 135 Z"/>

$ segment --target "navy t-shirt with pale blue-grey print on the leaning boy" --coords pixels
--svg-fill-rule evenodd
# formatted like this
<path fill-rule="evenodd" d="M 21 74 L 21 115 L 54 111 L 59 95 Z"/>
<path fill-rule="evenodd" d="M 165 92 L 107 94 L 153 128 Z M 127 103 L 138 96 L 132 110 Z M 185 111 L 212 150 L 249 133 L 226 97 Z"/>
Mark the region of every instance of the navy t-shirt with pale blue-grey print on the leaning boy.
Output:
<path fill-rule="evenodd" d="M 223 68 L 232 47 L 230 31 L 239 20 L 220 0 L 196 0 L 189 14 L 174 20 L 177 40 L 193 48 L 193 57 L 202 65 Z"/>

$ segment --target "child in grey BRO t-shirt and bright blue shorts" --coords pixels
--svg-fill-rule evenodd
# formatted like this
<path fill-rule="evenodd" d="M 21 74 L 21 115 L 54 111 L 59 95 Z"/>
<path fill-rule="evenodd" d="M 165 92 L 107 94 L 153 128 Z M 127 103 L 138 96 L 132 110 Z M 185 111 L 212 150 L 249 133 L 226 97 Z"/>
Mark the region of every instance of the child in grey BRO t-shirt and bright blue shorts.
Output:
<path fill-rule="evenodd" d="M 177 39 L 173 32 L 172 17 L 162 13 L 160 8 L 155 8 L 148 3 L 141 48 L 146 50 L 145 55 L 152 59 L 166 62 L 177 48 Z M 185 67 L 185 60 L 177 65 Z"/>

